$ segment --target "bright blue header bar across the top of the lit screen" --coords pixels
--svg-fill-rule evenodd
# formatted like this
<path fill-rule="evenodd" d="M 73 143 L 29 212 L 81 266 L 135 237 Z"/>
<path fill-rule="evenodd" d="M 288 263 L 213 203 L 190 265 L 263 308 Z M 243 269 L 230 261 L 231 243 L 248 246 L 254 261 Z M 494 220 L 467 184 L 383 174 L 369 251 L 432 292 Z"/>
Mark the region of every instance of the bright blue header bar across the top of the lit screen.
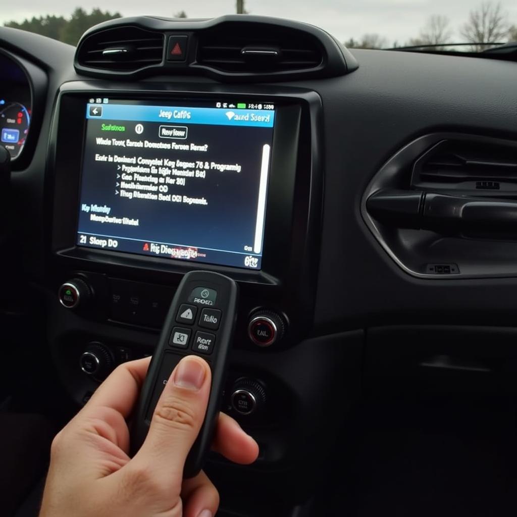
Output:
<path fill-rule="evenodd" d="M 87 104 L 86 118 L 272 128 L 275 111 L 146 106 L 142 104 Z"/>

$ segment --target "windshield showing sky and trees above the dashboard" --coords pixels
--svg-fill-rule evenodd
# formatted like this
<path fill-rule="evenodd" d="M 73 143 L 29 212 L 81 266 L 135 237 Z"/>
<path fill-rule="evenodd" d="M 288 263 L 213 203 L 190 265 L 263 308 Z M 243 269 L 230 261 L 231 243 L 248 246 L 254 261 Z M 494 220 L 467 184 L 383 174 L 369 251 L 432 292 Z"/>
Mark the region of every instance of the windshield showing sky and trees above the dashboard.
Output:
<path fill-rule="evenodd" d="M 386 49 L 439 45 L 438 49 L 480 52 L 517 41 L 517 2 L 471 0 L 25 0 L 0 12 L 0 24 L 77 44 L 87 28 L 121 16 L 211 18 L 249 13 L 294 19 L 322 27 L 349 48 Z M 104 4 L 106 5 L 106 4 Z M 457 44 L 462 44 L 457 46 Z"/>

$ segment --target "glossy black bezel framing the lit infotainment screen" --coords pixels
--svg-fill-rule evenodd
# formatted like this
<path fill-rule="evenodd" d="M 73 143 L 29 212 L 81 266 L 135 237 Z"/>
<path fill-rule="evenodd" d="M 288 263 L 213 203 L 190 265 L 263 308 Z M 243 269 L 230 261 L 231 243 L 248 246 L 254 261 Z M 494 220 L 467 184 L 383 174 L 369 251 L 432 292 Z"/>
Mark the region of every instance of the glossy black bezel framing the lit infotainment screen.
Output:
<path fill-rule="evenodd" d="M 107 96 L 113 99 L 126 98 L 173 103 L 175 99 L 186 101 L 229 100 L 234 98 L 234 95 L 199 91 L 165 93 L 163 91 L 131 90 L 128 92 L 123 89 L 77 89 L 70 92 L 63 91 L 62 88 L 57 99 L 53 123 L 54 138 L 51 139 L 49 149 L 49 158 L 53 163 L 55 178 L 52 252 L 59 256 L 72 258 L 76 262 L 82 263 L 83 267 L 87 267 L 87 264 L 104 264 L 180 274 L 192 269 L 207 269 L 225 272 L 243 282 L 273 285 L 281 284 L 287 277 L 293 276 L 293 266 L 294 269 L 298 269 L 298 266 L 293 264 L 293 260 L 296 261 L 296 257 L 298 257 L 299 267 L 302 267 L 301 263 L 304 262 L 300 257 L 306 244 L 310 203 L 317 200 L 317 197 L 314 198 L 310 195 L 311 192 L 314 192 L 312 182 L 317 179 L 312 174 L 310 160 L 310 128 L 307 134 L 300 135 L 302 117 L 305 115 L 305 118 L 310 121 L 310 116 L 307 110 L 307 100 L 287 96 L 280 98 L 268 93 L 247 93 L 245 96 L 241 92 L 238 93 L 247 101 L 267 102 L 269 100 L 275 103 L 277 113 L 273 131 L 261 270 L 148 257 L 76 245 L 80 174 L 70 174 L 70 171 L 80 171 L 82 168 L 86 124 L 84 110 L 87 97 Z M 312 95 L 319 100 L 315 94 Z M 70 131 L 70 128 L 74 127 L 79 128 L 78 131 Z M 303 161 L 300 160 L 300 153 L 305 153 Z M 296 203 L 295 190 L 300 192 L 300 196 L 298 194 L 296 196 Z M 295 211 L 304 219 L 299 221 L 302 226 L 293 224 Z M 301 234 L 300 230 L 302 230 Z"/>

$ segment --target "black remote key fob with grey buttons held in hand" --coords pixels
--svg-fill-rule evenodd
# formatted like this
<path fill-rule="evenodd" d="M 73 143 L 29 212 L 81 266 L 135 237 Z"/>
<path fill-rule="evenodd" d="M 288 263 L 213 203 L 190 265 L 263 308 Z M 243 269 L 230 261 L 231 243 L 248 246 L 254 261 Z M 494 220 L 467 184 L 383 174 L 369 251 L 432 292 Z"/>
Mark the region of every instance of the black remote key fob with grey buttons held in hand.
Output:
<path fill-rule="evenodd" d="M 221 407 L 226 363 L 237 317 L 238 287 L 211 271 L 191 271 L 178 286 L 145 378 L 131 433 L 131 452 L 143 444 L 163 387 L 186 355 L 205 359 L 212 372 L 205 420 L 185 463 L 184 477 L 202 469 Z"/>

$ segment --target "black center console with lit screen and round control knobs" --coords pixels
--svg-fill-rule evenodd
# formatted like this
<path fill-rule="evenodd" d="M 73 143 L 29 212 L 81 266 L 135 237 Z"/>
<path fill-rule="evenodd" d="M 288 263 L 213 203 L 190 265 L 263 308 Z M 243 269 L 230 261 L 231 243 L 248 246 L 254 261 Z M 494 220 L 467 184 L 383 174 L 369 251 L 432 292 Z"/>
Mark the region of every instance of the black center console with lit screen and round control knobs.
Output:
<path fill-rule="evenodd" d="M 153 354 L 186 272 L 220 272 L 240 292 L 222 409 L 258 440 L 254 468 L 288 462 L 292 426 L 311 414 L 300 407 L 307 397 L 321 405 L 313 394 L 326 375 L 285 374 L 317 355 L 303 342 L 321 233 L 321 118 L 320 98 L 301 88 L 62 85 L 48 156 L 49 340 L 75 402 L 117 364 Z M 210 305 L 210 293 L 196 296 Z"/>

